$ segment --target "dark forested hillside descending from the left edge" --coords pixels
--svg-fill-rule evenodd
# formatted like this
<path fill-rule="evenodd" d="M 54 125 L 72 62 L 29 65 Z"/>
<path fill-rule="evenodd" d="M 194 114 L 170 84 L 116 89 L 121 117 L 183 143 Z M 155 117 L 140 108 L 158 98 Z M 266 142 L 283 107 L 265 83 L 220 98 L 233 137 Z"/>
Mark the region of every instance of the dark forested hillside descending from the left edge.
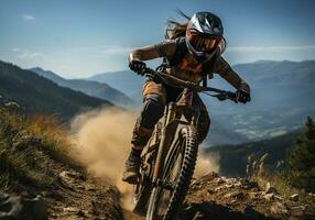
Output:
<path fill-rule="evenodd" d="M 109 101 L 59 87 L 37 74 L 0 61 L 0 95 L 26 111 L 46 112 L 67 120 L 82 110 L 113 106 Z"/>

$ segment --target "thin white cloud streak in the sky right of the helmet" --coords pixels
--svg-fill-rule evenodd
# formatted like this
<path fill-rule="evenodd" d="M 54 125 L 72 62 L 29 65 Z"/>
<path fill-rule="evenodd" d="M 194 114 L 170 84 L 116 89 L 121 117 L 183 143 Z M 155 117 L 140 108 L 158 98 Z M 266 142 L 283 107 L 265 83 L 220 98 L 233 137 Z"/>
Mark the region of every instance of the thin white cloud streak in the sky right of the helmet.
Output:
<path fill-rule="evenodd" d="M 315 45 L 300 46 L 230 46 L 227 52 L 283 52 L 315 50 Z"/>

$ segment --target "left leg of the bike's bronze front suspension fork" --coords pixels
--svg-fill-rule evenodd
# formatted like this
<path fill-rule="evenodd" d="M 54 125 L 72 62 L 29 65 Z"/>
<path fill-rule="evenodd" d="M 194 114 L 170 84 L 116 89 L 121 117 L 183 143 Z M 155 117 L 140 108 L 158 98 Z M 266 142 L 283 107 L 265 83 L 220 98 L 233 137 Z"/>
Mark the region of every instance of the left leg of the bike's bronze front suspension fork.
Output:
<path fill-rule="evenodd" d="M 172 140 L 172 135 L 170 132 L 172 132 L 172 129 L 174 127 L 169 127 L 170 122 L 172 122 L 174 119 L 176 119 L 176 105 L 174 102 L 169 103 L 169 106 L 165 108 L 164 111 L 164 123 L 161 131 L 161 142 L 159 145 L 158 156 L 155 161 L 154 172 L 153 172 L 153 185 L 159 184 L 156 183 L 158 179 L 161 177 L 165 156 L 167 153 L 167 150 L 170 147 L 170 142 Z"/>

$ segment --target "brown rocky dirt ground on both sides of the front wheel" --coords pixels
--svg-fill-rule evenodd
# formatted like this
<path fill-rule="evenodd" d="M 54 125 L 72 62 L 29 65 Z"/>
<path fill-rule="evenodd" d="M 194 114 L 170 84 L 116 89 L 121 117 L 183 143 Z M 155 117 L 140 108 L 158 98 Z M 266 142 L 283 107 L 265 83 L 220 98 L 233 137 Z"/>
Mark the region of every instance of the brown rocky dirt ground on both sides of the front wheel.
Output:
<path fill-rule="evenodd" d="M 10 215 L 23 220 L 143 219 L 121 208 L 118 189 L 107 184 L 105 179 L 87 177 L 75 169 L 58 168 L 59 186 L 52 186 L 50 191 L 36 189 L 33 195 L 28 196 L 1 194 L 0 219 L 14 219 L 9 218 Z M 298 199 L 298 195 L 285 199 L 272 187 L 260 189 L 253 182 L 220 177 L 211 173 L 193 180 L 180 219 L 315 219 L 315 195 L 309 195 L 307 205 Z M 20 210 L 19 206 L 22 207 Z"/>

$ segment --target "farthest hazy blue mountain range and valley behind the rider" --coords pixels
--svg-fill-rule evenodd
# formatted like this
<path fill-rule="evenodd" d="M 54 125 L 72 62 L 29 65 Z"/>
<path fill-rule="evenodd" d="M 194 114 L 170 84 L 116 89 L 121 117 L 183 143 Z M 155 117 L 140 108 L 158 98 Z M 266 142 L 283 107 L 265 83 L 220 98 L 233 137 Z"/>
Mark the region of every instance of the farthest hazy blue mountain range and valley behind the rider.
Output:
<path fill-rule="evenodd" d="M 232 68 L 251 86 L 252 101 L 248 105 L 220 102 L 202 95 L 211 116 L 206 145 L 271 139 L 301 128 L 308 114 L 314 116 L 315 61 L 259 61 Z M 97 74 L 88 80 L 107 82 L 141 105 L 145 78 L 130 70 Z M 216 75 L 209 86 L 235 91 Z"/>

